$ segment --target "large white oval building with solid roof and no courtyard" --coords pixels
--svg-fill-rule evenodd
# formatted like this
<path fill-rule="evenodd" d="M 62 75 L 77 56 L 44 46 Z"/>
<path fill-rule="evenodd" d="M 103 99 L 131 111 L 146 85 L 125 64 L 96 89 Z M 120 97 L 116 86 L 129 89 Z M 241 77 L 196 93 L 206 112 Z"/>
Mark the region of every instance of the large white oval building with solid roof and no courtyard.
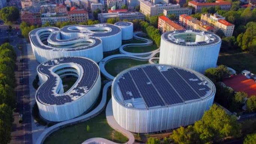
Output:
<path fill-rule="evenodd" d="M 214 84 L 196 71 L 139 65 L 115 77 L 113 116 L 122 128 L 137 133 L 191 125 L 213 104 L 215 91 Z"/>

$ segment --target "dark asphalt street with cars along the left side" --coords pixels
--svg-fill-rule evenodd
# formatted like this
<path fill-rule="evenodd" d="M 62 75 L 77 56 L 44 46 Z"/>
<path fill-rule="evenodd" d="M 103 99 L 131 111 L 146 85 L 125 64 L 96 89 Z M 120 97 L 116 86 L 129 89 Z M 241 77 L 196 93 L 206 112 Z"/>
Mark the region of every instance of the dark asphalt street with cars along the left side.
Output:
<path fill-rule="evenodd" d="M 17 81 L 17 87 L 15 88 L 17 107 L 16 112 L 13 113 L 14 122 L 10 144 L 32 144 L 27 48 L 25 46 L 23 49 L 24 59 L 21 62 L 19 62 L 21 51 L 16 48 L 16 45 L 21 40 L 24 39 L 18 38 L 11 43 L 15 49 L 18 61 L 16 62 L 17 70 L 15 71 Z M 23 77 L 23 84 L 19 82 L 20 77 Z M 19 114 L 23 114 L 22 123 L 19 123 Z"/>

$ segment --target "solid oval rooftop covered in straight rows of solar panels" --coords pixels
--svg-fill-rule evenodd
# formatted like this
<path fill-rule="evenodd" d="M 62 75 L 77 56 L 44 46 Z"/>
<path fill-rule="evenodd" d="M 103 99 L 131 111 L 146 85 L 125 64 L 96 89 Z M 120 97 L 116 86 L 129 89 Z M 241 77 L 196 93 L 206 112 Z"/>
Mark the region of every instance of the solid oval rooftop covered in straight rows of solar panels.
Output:
<path fill-rule="evenodd" d="M 118 102 L 138 109 L 200 101 L 214 93 L 213 83 L 204 75 L 160 64 L 146 64 L 124 70 L 116 76 L 112 87 L 112 94 Z"/>

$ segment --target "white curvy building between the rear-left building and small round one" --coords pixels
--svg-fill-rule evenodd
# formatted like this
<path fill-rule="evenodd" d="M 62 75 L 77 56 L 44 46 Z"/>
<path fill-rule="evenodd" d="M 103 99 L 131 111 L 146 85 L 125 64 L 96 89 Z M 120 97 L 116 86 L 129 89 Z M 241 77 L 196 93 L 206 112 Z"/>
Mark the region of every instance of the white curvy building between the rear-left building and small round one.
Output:
<path fill-rule="evenodd" d="M 121 28 L 112 24 L 68 25 L 61 28 L 66 37 L 97 37 L 102 40 L 103 52 L 118 49 L 122 45 Z"/>

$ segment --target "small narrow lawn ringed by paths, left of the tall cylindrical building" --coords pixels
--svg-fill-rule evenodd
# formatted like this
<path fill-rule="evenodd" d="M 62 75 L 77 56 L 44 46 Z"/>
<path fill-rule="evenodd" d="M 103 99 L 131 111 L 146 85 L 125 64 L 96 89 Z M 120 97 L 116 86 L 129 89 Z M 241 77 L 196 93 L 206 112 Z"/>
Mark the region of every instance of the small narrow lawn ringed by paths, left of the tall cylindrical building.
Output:
<path fill-rule="evenodd" d="M 156 44 L 153 44 L 151 46 L 127 46 L 124 48 L 125 51 L 133 53 L 151 52 L 156 49 Z"/>

